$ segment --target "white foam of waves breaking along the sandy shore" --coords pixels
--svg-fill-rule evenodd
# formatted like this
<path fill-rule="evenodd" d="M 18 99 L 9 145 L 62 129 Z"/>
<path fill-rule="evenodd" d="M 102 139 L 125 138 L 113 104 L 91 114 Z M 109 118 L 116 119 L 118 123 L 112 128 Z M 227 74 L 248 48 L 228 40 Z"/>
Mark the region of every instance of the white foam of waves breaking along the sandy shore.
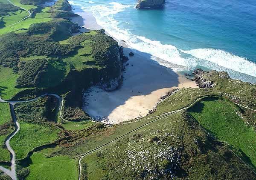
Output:
<path fill-rule="evenodd" d="M 171 44 L 162 44 L 159 41 L 132 34 L 128 29 L 120 28 L 119 21 L 115 19 L 115 14 L 124 11 L 126 8 L 132 8 L 132 6 L 111 2 L 104 5 L 90 5 L 85 7 L 84 10 L 88 11 L 90 9 L 97 23 L 108 34 L 117 40 L 125 40 L 131 48 L 147 53 L 151 56 L 152 60 L 175 71 L 191 70 L 196 66 L 204 66 L 209 69 L 228 71 L 231 77 L 241 80 L 250 79 L 250 77 L 247 78 L 248 76 L 246 78 L 244 77 L 244 79 L 243 74 L 256 77 L 256 64 L 243 57 L 218 49 L 180 50 Z M 183 53 L 186 54 L 185 57 Z M 178 66 L 174 67 L 172 66 L 173 64 Z"/>

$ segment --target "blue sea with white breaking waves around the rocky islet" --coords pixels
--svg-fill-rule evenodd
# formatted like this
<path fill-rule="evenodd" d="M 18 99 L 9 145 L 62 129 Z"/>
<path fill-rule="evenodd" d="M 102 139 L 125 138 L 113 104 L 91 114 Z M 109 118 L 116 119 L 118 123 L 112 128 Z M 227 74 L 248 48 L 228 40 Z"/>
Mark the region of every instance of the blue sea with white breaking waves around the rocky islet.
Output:
<path fill-rule="evenodd" d="M 215 69 L 256 83 L 256 0 L 166 0 L 160 10 L 135 9 L 137 0 L 70 3 L 174 71 Z"/>

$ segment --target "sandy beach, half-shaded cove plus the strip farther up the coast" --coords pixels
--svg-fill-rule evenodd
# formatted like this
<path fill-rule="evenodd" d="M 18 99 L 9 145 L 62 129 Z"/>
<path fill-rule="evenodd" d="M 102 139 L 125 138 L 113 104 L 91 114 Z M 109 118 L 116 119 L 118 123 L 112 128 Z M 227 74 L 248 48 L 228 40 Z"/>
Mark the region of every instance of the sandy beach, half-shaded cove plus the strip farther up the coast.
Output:
<path fill-rule="evenodd" d="M 102 29 L 90 12 L 84 12 L 79 7 L 74 12 L 81 17 L 73 18 L 73 22 L 85 29 Z M 85 92 L 83 110 L 91 117 L 113 124 L 143 117 L 166 92 L 175 88 L 197 87 L 195 82 L 182 74 L 151 60 L 150 54 L 130 49 L 124 42 L 119 42 L 119 46 L 124 47 L 124 54 L 129 57 L 123 84 L 112 92 L 96 86 Z M 132 57 L 129 56 L 131 51 L 134 52 Z"/>

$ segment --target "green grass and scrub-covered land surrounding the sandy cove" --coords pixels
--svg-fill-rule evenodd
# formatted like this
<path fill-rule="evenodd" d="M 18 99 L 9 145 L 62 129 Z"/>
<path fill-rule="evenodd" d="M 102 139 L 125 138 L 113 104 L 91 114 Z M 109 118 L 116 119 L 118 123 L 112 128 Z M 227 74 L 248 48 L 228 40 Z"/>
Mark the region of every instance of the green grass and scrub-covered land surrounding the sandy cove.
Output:
<path fill-rule="evenodd" d="M 20 180 L 77 180 L 82 155 L 81 180 L 256 179 L 256 85 L 198 69 L 199 88 L 170 91 L 146 117 L 112 127 L 92 122 L 82 91 L 120 80 L 117 42 L 104 30 L 79 33 L 67 0 L 11 1 L 32 15 L 17 23 L 29 13 L 0 0 L 1 97 L 63 98 L 62 114 L 53 96 L 15 104 L 20 131 L 10 144 Z M 10 106 L 0 103 L 0 111 L 0 165 L 9 168 L 4 142 L 15 127 Z M 0 179 L 9 177 L 0 172 Z"/>

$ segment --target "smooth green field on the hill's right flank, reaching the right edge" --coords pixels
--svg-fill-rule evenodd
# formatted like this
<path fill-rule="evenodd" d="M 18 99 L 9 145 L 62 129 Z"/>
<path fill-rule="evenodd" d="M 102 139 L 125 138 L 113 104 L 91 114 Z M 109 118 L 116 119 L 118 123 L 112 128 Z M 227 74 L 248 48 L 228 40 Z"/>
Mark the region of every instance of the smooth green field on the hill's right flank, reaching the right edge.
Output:
<path fill-rule="evenodd" d="M 204 99 L 189 109 L 204 129 L 230 144 L 255 169 L 256 132 L 244 123 L 237 111 L 236 105 L 221 99 Z"/>

